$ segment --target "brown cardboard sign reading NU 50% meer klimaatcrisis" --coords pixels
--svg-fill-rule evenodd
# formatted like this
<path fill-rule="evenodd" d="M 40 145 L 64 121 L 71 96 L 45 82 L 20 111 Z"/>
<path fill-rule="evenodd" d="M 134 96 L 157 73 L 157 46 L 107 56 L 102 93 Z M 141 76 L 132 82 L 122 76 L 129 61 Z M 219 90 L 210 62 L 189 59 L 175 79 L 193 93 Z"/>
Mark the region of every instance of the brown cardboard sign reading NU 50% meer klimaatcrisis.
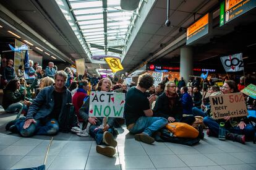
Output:
<path fill-rule="evenodd" d="M 248 115 L 242 93 L 210 96 L 210 103 L 211 113 L 215 119 L 221 119 L 226 116 L 242 117 Z"/>

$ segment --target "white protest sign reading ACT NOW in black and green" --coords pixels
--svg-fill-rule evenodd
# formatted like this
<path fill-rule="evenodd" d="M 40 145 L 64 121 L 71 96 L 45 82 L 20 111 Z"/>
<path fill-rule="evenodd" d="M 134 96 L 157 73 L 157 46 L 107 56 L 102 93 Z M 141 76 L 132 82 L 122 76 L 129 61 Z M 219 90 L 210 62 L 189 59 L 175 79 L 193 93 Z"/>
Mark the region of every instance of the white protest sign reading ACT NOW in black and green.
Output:
<path fill-rule="evenodd" d="M 123 117 L 124 93 L 92 91 L 90 96 L 90 117 Z"/>

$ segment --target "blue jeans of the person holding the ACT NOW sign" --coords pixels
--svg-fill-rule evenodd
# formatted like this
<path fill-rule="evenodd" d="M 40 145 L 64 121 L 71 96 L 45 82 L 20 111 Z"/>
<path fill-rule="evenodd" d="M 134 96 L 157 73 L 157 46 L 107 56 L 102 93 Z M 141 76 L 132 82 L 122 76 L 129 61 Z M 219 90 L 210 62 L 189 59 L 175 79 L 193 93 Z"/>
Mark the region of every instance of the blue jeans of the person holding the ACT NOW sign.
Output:
<path fill-rule="evenodd" d="M 96 140 L 97 145 L 102 145 L 103 143 L 103 133 L 104 131 L 101 128 L 98 128 L 98 125 L 91 125 L 89 128 L 89 134 Z M 108 132 L 113 134 L 114 136 L 114 130 L 109 128 Z"/>

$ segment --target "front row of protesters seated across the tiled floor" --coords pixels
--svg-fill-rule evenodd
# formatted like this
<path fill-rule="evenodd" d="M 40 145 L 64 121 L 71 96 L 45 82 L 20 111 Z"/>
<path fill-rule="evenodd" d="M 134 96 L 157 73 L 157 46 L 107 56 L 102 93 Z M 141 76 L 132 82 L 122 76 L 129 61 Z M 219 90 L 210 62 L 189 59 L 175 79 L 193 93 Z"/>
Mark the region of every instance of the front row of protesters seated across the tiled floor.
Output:
<path fill-rule="evenodd" d="M 47 78 L 51 79 L 51 78 Z M 116 119 L 114 117 L 89 117 L 90 96 L 88 96 L 88 81 L 80 80 L 77 82 L 78 88 L 72 97 L 70 91 L 65 86 L 68 75 L 60 70 L 54 75 L 54 81 L 44 83 L 40 92 L 33 101 L 28 105 L 27 116 L 9 122 L 6 125 L 6 130 L 17 132 L 22 137 L 31 137 L 32 135 L 55 135 L 59 131 L 64 131 L 67 126 L 69 130 L 77 130 L 80 132 L 79 125 L 74 121 L 66 120 L 67 107 L 70 103 L 75 106 L 75 114 L 79 117 L 79 121 L 83 122 L 83 128 L 88 130 L 97 143 L 96 151 L 105 156 L 113 156 L 116 153 L 117 142 L 115 140 L 118 134 L 114 129 L 116 127 Z M 54 82 L 54 83 L 53 83 Z M 225 122 L 226 138 L 236 142 L 245 143 L 246 140 L 254 137 L 255 129 L 249 124 L 247 117 L 224 117 L 223 120 L 215 120 L 210 113 L 203 112 L 200 109 L 193 108 L 193 101 L 188 93 L 187 87 L 181 88 L 181 96 L 176 92 L 176 83 L 167 82 L 163 90 L 163 84 L 158 84 L 158 96 L 153 93 L 147 96 L 146 91 L 153 86 L 153 77 L 149 74 L 143 75 L 139 83 L 129 90 L 122 87 L 120 91 L 126 92 L 126 102 L 124 106 L 124 117 L 126 119 L 126 127 L 130 133 L 134 134 L 135 140 L 148 144 L 154 143 L 153 135 L 156 131 L 162 129 L 168 122 L 186 122 L 191 124 L 184 115 L 203 116 L 203 122 L 208 126 L 207 134 L 210 136 L 218 136 L 220 122 Z M 23 96 L 18 94 L 20 88 L 19 80 L 11 80 L 6 87 L 9 96 L 13 96 L 13 101 L 19 101 Z M 101 79 L 96 91 L 110 92 L 112 82 L 108 78 Z M 156 88 L 156 89 L 157 89 Z M 216 95 L 218 88 L 212 87 L 212 94 Z M 232 80 L 224 83 L 221 92 L 235 93 L 237 91 L 236 84 Z M 6 93 L 7 94 L 7 93 Z M 218 92 L 220 94 L 220 91 Z M 156 101 L 154 108 L 151 104 Z M 11 110 L 13 107 L 22 107 L 15 103 L 7 103 L 4 100 L 4 107 Z M 27 103 L 28 103 L 27 102 Z M 207 104 L 205 104 L 207 105 Z M 202 105 L 205 109 L 208 106 Z M 74 123 L 74 124 L 72 124 Z M 76 123 L 76 124 L 75 124 Z M 81 129 L 81 130 L 82 130 Z M 200 129 L 198 129 L 200 131 Z M 73 132 L 73 131 L 72 131 Z M 198 137 L 203 138 L 202 129 Z"/>

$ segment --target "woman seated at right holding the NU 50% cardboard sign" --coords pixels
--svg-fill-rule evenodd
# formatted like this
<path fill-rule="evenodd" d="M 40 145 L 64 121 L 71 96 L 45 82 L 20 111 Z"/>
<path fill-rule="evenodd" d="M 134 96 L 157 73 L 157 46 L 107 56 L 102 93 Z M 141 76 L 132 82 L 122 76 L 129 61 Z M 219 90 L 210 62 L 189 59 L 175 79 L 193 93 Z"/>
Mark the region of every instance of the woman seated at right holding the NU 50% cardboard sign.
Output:
<path fill-rule="evenodd" d="M 226 80 L 221 92 L 223 94 L 236 93 L 237 85 L 233 80 Z M 252 140 L 255 134 L 253 125 L 248 124 L 247 117 L 229 117 L 226 116 L 223 119 L 215 120 L 212 117 L 205 117 L 203 123 L 208 126 L 207 135 L 218 137 L 220 122 L 225 122 L 226 139 L 233 140 L 239 143 L 245 143 L 247 140 Z"/>

